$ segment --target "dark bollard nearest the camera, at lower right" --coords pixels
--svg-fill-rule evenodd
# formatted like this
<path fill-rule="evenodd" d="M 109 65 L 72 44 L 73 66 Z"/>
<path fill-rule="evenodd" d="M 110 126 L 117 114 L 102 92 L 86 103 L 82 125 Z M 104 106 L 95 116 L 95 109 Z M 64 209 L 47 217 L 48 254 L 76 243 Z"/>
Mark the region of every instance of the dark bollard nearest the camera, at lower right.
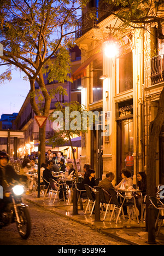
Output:
<path fill-rule="evenodd" d="M 148 241 L 149 245 L 153 245 L 156 243 L 155 241 L 155 213 L 154 206 L 149 205 L 148 207 Z"/>

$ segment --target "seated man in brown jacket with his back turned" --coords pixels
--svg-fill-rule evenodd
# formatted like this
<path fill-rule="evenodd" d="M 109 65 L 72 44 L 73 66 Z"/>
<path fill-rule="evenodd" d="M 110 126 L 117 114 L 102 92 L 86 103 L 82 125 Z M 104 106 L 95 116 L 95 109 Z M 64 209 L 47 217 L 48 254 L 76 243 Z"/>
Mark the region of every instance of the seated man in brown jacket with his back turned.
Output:
<path fill-rule="evenodd" d="M 112 181 L 114 179 L 114 173 L 113 172 L 107 172 L 106 178 L 104 178 L 102 181 L 99 182 L 98 187 L 103 188 L 109 193 L 109 188 L 114 188 L 112 185 Z M 110 200 L 110 196 L 108 194 L 105 194 L 107 202 Z"/>

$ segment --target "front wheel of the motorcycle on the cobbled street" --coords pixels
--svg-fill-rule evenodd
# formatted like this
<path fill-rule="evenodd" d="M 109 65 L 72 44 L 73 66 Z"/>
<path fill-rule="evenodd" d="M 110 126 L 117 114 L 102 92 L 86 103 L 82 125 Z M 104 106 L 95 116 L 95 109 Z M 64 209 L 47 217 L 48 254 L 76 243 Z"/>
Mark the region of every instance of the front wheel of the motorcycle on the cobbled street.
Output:
<path fill-rule="evenodd" d="M 18 215 L 21 223 L 16 223 L 17 230 L 22 239 L 27 239 L 31 234 L 31 218 L 26 207 L 19 208 Z"/>

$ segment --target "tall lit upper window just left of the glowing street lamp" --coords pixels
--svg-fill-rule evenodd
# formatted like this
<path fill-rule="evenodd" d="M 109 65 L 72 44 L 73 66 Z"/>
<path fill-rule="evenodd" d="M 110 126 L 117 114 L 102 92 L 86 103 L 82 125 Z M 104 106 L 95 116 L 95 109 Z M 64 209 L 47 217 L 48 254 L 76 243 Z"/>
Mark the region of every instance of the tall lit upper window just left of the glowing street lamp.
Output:
<path fill-rule="evenodd" d="M 91 102 L 102 100 L 103 82 L 99 79 L 103 74 L 102 54 L 90 65 Z"/>

